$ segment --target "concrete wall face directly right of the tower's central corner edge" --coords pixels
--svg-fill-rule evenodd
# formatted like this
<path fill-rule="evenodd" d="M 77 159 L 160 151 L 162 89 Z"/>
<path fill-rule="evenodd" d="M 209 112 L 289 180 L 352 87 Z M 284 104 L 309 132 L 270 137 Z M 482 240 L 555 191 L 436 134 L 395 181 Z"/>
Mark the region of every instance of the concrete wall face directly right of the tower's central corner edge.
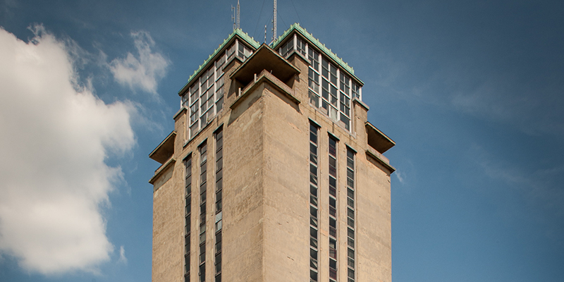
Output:
<path fill-rule="evenodd" d="M 264 281 L 309 277 L 309 125 L 297 105 L 266 85 Z"/>

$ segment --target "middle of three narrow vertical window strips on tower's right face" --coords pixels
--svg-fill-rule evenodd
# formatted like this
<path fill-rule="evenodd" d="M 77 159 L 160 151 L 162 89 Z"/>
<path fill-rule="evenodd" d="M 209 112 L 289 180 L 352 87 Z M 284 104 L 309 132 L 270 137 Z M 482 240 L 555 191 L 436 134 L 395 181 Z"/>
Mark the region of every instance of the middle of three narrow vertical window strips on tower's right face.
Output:
<path fill-rule="evenodd" d="M 337 281 L 337 140 L 329 136 L 329 281 Z"/>

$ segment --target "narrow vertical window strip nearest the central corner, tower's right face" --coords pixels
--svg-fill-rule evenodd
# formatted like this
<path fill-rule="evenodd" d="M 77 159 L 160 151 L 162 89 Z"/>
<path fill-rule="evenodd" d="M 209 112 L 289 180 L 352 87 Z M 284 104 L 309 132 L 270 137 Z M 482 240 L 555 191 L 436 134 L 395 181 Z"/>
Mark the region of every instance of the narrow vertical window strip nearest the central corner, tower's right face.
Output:
<path fill-rule="evenodd" d="M 309 281 L 317 282 L 318 253 L 317 234 L 319 233 L 317 214 L 319 206 L 317 204 L 317 140 L 319 128 L 313 123 L 309 123 Z"/>

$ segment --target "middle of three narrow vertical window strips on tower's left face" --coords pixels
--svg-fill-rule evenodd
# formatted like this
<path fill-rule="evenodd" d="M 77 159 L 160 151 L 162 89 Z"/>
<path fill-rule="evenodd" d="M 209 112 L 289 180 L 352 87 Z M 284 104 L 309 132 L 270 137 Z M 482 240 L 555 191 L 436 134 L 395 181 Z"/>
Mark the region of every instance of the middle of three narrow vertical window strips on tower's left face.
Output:
<path fill-rule="evenodd" d="M 206 186 L 207 186 L 207 143 L 200 145 L 200 282 L 206 281 Z"/>

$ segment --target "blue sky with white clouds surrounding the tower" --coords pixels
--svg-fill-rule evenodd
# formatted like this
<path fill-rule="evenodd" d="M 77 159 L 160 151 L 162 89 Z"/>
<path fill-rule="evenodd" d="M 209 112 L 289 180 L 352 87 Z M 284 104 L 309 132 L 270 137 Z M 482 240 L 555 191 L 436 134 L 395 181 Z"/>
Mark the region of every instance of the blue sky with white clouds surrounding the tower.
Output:
<path fill-rule="evenodd" d="M 147 154 L 231 5 L 0 0 L 0 281 L 150 281 Z M 240 5 L 262 42 L 271 1 Z M 397 143 L 393 281 L 564 280 L 563 14 L 278 1 L 278 35 L 299 22 L 353 66 Z"/>

